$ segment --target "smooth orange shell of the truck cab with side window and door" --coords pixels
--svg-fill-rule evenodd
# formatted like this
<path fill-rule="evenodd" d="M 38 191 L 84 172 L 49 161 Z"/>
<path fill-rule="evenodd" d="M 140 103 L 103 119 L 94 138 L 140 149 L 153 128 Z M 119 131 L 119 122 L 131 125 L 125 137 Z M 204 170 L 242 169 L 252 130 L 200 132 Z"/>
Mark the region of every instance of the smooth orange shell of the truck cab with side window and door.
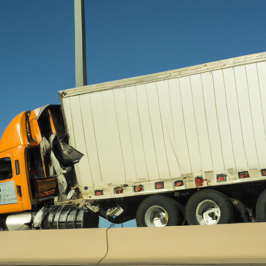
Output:
<path fill-rule="evenodd" d="M 11 120 L 0 140 L 1 214 L 31 210 L 25 163 L 28 145 L 26 116 L 22 112 Z"/>

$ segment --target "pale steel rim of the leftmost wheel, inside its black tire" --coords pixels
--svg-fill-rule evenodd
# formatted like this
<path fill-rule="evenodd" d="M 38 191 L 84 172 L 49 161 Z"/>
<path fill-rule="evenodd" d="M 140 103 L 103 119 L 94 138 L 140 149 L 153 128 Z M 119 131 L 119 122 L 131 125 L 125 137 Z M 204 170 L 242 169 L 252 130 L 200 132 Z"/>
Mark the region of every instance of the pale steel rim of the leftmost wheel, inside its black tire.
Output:
<path fill-rule="evenodd" d="M 161 206 L 152 206 L 146 211 L 144 221 L 147 227 L 164 227 L 168 223 L 168 213 Z"/>

